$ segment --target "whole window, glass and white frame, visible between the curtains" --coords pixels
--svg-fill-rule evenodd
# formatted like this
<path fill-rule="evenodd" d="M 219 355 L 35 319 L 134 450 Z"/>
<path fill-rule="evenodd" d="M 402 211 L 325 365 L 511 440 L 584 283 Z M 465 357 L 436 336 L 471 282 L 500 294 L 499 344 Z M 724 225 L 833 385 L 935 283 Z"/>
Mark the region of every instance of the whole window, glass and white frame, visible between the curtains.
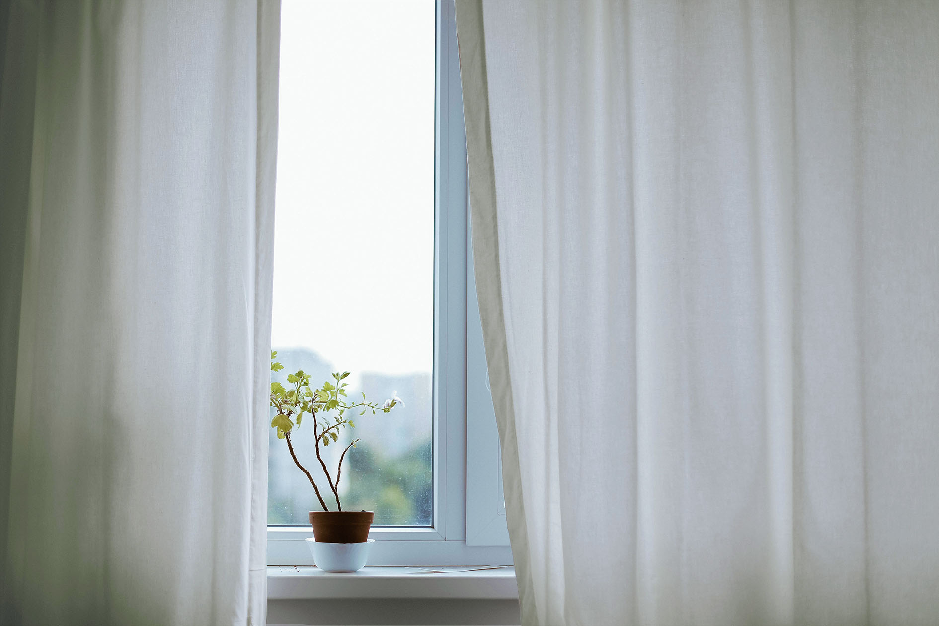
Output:
<path fill-rule="evenodd" d="M 371 564 L 509 564 L 453 2 L 285 0 L 282 11 L 280 374 L 348 370 L 356 394 L 405 401 L 356 420 L 362 444 L 343 467 L 343 508 L 376 511 Z M 311 471 L 312 435 L 294 436 Z M 316 496 L 272 429 L 269 451 L 269 563 L 309 564 Z"/>

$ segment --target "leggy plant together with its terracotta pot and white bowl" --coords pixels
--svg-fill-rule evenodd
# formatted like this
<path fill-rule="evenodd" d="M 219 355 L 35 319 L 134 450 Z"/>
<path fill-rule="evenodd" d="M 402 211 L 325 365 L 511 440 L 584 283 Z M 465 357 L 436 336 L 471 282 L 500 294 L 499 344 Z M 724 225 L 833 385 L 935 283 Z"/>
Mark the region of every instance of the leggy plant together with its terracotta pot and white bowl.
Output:
<path fill-rule="evenodd" d="M 279 372 L 284 369 L 281 363 L 274 360 L 276 357 L 277 352 L 271 351 L 270 370 L 272 372 Z M 310 525 L 313 527 L 315 539 L 315 542 L 310 543 L 310 549 L 318 567 L 334 572 L 354 572 L 362 569 L 367 558 L 368 542 L 370 542 L 368 530 L 372 526 L 375 512 L 343 511 L 343 505 L 339 497 L 339 481 L 342 478 L 343 461 L 346 460 L 346 453 L 349 449 L 355 448 L 355 445 L 359 443 L 359 439 L 352 439 L 339 456 L 335 481 L 332 480 L 330 469 L 323 459 L 322 450 L 339 441 L 340 430 L 355 428 L 354 417 L 360 417 L 366 411 L 372 411 L 373 415 L 379 411 L 388 413 L 397 405 L 404 406 L 401 398 L 397 397 L 397 392 L 393 393 L 393 398 L 386 400 L 383 405 L 368 402 L 364 393 L 362 393 L 361 401 L 349 401 L 346 399 L 347 383 L 343 382 L 348 375 L 348 372 L 335 372 L 332 374 L 332 382 L 327 380 L 318 389 L 311 387 L 310 374 L 306 374 L 302 370 L 296 374 L 287 374 L 286 387 L 279 382 L 270 383 L 270 405 L 277 412 L 273 420 L 270 420 L 270 426 L 277 429 L 278 438 L 286 440 L 290 456 L 307 480 L 310 481 L 310 484 L 313 485 L 313 491 L 316 493 L 319 505 L 323 508 L 322 511 L 310 511 L 309 513 Z M 357 411 L 358 413 L 356 413 Z M 323 493 L 313 476 L 300 463 L 300 459 L 297 458 L 297 451 L 294 450 L 293 442 L 290 440 L 290 434 L 294 428 L 300 428 L 304 415 L 309 415 L 310 419 L 313 420 L 316 460 L 319 462 L 319 466 L 322 467 L 323 475 L 326 477 L 327 484 L 324 485 L 324 490 L 326 486 L 330 490 L 327 492 L 326 498 L 323 497 Z M 332 499 L 336 503 L 334 511 L 331 511 L 330 505 L 327 504 L 327 501 Z M 362 561 L 361 564 L 351 569 L 359 560 Z M 320 563 L 323 564 L 320 565 Z"/>

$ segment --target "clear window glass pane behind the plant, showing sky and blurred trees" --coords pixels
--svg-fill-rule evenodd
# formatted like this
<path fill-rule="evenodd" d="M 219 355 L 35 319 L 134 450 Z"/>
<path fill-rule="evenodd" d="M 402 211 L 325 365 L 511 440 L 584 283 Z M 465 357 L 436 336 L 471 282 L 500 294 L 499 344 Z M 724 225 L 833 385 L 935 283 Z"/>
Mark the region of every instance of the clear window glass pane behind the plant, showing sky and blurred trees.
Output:
<path fill-rule="evenodd" d="M 378 525 L 432 521 L 435 7 L 284 0 L 271 341 L 285 382 L 350 371 L 348 397 L 379 404 L 323 449 L 343 509 Z M 294 449 L 327 506 L 304 416 Z M 269 524 L 307 524 L 313 487 L 269 432 Z M 334 473 L 333 473 L 334 475 Z"/>

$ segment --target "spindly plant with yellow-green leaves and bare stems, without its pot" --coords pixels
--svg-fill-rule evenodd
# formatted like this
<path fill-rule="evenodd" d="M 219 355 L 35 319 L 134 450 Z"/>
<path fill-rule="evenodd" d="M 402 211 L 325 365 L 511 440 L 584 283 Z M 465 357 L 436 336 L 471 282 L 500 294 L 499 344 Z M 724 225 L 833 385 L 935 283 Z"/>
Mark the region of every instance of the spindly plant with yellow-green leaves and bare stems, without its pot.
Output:
<path fill-rule="evenodd" d="M 271 372 L 280 372 L 284 369 L 283 365 L 274 360 L 276 357 L 277 351 L 271 351 Z M 293 457 L 294 463 L 300 467 L 310 484 L 313 485 L 313 490 L 316 492 L 316 497 L 319 499 L 323 511 L 329 511 L 330 509 L 326 506 L 323 496 L 320 495 L 319 487 L 316 486 L 313 476 L 310 475 L 306 467 L 300 465 L 297 452 L 294 451 L 293 443 L 290 441 L 290 433 L 294 428 L 300 428 L 303 415 L 309 414 L 313 418 L 316 459 L 323 468 L 323 474 L 330 484 L 332 495 L 336 498 L 336 509 L 342 511 L 343 505 L 339 501 L 339 479 L 342 478 L 343 461 L 346 459 L 346 452 L 350 448 L 355 448 L 355 445 L 359 443 L 359 439 L 350 441 L 339 456 L 339 465 L 336 468 L 336 480 L 334 482 L 330 470 L 320 453 L 320 444 L 325 448 L 331 443 L 336 443 L 339 440 L 339 429 L 355 428 L 355 422 L 351 416 L 356 409 L 362 408 L 359 413 L 359 416 L 362 416 L 368 410 L 371 410 L 372 415 L 375 415 L 378 411 L 388 413 L 397 405 L 404 406 L 401 398 L 397 397 L 397 393 L 393 394 L 391 400 L 386 400 L 380 406 L 368 402 L 364 393 L 362 393 L 362 402 L 349 404 L 346 399 L 347 383 L 343 382 L 348 375 L 348 372 L 335 372 L 332 374 L 334 382 L 327 380 L 319 389 L 310 387 L 310 374 L 304 373 L 303 370 L 298 371 L 296 374 L 287 374 L 287 387 L 279 382 L 270 383 L 270 405 L 277 410 L 277 415 L 274 416 L 273 420 L 270 420 L 270 426 L 277 429 L 278 438 L 286 439 L 290 456 Z M 336 415 L 331 416 L 331 411 L 335 411 Z"/>

